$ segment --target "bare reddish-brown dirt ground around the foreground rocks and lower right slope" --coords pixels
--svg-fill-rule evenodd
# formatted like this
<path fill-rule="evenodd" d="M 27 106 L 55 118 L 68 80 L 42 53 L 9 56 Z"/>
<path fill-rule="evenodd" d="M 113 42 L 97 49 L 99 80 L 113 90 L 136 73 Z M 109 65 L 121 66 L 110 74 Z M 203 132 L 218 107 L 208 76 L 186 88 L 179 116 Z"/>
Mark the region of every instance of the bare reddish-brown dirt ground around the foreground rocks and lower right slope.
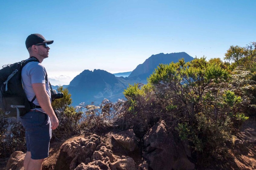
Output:
<path fill-rule="evenodd" d="M 101 137 L 101 141 L 105 144 L 109 144 L 112 146 L 112 134 L 115 134 L 113 131 L 107 131 L 98 134 Z M 89 134 L 88 134 L 89 135 Z M 80 135 L 77 137 L 73 137 L 68 139 L 74 140 L 76 138 L 85 137 L 86 135 Z M 211 168 L 206 168 L 208 170 L 219 170 L 219 169 L 241 169 L 241 170 L 251 170 L 256 169 L 256 120 L 255 118 L 248 120 L 245 122 L 239 131 L 239 133 L 234 137 L 234 139 L 239 139 L 238 144 L 231 146 L 227 155 L 222 159 L 221 162 L 216 162 L 216 164 L 212 163 Z M 50 143 L 50 151 L 49 157 L 43 162 L 43 170 L 53 170 L 54 165 L 57 161 L 57 158 L 60 154 L 60 146 L 65 141 L 60 142 L 51 142 Z M 143 162 L 143 158 L 141 157 L 141 151 L 137 151 L 136 153 L 131 153 L 122 148 L 122 146 L 115 145 L 113 148 L 113 153 L 118 156 L 126 155 L 130 156 L 134 159 L 137 165 Z M 9 158 L 0 159 L 0 170 L 4 170 Z M 198 168 L 196 168 L 198 169 Z"/>

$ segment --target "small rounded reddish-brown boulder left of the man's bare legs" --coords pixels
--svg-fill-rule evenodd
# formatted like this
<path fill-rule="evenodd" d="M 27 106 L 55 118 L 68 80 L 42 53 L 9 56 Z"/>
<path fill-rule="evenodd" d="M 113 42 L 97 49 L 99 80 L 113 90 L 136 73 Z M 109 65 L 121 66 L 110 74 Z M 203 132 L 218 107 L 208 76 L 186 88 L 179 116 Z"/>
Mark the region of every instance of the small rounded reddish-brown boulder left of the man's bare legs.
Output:
<path fill-rule="evenodd" d="M 24 170 L 23 161 L 25 158 L 25 153 L 21 151 L 15 151 L 11 154 L 10 159 L 7 162 L 6 170 Z"/>

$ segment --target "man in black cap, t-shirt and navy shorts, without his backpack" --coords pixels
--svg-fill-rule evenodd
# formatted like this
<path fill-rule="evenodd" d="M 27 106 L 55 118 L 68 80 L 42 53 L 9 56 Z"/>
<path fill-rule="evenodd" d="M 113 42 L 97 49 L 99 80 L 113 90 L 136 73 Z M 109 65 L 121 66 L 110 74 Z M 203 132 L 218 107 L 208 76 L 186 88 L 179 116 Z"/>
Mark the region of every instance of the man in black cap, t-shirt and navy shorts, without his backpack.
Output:
<path fill-rule="evenodd" d="M 48 57 L 48 45 L 52 43 L 52 40 L 47 41 L 41 34 L 29 35 L 25 43 L 30 58 L 35 60 L 27 63 L 21 71 L 24 91 L 28 100 L 33 101 L 33 108 L 21 117 L 21 123 L 26 131 L 26 170 L 41 170 L 44 158 L 49 154 L 51 132 L 59 125 L 51 107 L 47 72 L 41 64 Z"/>

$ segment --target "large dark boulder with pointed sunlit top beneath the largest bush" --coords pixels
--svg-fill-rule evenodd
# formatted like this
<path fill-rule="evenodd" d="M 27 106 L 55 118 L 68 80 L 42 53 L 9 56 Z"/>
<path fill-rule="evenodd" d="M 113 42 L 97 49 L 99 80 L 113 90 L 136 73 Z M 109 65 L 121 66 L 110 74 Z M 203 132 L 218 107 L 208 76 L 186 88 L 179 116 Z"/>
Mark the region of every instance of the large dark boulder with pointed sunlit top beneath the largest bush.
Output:
<path fill-rule="evenodd" d="M 175 142 L 166 127 L 165 122 L 160 121 L 144 135 L 143 156 L 150 161 L 149 166 L 154 170 L 194 169 L 195 165 L 188 159 L 191 156 L 188 146 L 185 142 Z"/>

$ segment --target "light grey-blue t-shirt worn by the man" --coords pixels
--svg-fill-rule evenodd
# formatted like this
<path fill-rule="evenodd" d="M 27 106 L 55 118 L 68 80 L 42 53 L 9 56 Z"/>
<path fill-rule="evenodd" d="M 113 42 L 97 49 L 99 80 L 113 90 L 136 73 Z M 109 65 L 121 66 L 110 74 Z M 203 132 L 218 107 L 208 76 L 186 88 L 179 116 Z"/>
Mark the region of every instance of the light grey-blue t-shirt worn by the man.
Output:
<path fill-rule="evenodd" d="M 51 101 L 51 92 L 50 92 L 50 85 L 49 85 L 48 77 L 47 77 L 47 81 L 45 81 L 46 74 L 47 73 L 46 73 L 44 66 L 41 63 L 36 62 L 36 61 L 31 61 L 23 67 L 23 69 L 21 71 L 22 84 L 23 84 L 24 91 L 25 91 L 29 101 L 31 101 L 35 96 L 34 90 L 32 88 L 32 84 L 34 84 L 34 83 L 44 83 L 45 84 L 46 92 L 47 92 L 48 96 L 50 97 L 50 101 Z M 39 106 L 37 98 L 34 100 L 33 103 L 35 105 Z M 44 112 L 43 109 L 37 108 L 36 110 Z"/>

